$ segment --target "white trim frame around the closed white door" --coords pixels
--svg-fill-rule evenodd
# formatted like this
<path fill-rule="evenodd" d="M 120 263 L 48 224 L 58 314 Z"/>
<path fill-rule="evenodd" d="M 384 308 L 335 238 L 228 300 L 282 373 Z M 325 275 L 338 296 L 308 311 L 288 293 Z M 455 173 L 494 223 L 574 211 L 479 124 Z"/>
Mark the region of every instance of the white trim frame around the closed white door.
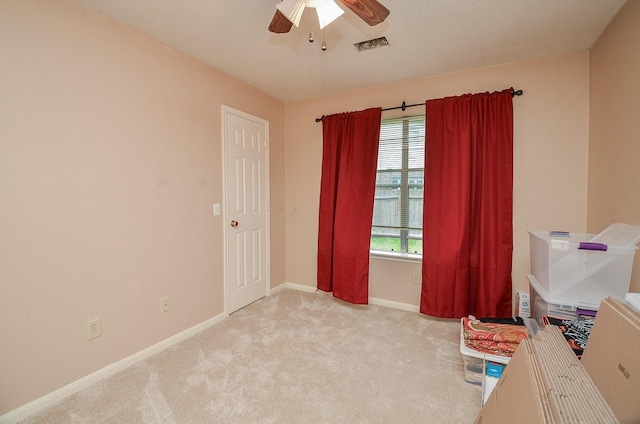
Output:
<path fill-rule="evenodd" d="M 229 209 L 227 201 L 227 170 L 229 169 L 227 164 L 227 115 L 232 114 L 239 116 L 250 121 L 257 122 L 264 125 L 265 129 L 265 179 L 266 179 L 266 193 L 265 193 L 265 213 L 266 213 L 266 252 L 265 252 L 265 293 L 266 296 L 271 295 L 271 184 L 269 181 L 269 121 L 243 112 L 238 109 L 234 109 L 227 105 L 222 105 L 222 221 L 223 221 L 223 285 L 224 285 L 224 313 L 229 316 L 229 281 L 228 281 L 228 263 L 229 252 L 227 251 L 227 245 L 229 241 Z"/>

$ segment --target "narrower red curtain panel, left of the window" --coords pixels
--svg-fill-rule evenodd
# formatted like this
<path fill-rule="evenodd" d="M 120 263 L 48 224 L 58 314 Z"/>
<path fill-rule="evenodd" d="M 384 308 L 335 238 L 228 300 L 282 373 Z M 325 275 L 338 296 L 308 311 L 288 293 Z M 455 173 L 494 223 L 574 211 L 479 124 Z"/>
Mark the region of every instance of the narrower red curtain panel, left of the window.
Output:
<path fill-rule="evenodd" d="M 382 109 L 322 119 L 318 289 L 369 301 L 369 246 Z"/>

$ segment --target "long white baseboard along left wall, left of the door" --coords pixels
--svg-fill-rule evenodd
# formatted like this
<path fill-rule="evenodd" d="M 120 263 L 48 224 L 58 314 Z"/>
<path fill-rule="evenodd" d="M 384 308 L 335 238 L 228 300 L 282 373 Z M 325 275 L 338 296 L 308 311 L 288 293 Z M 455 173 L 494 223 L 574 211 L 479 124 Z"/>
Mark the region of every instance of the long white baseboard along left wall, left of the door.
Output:
<path fill-rule="evenodd" d="M 226 313 L 222 313 L 213 318 L 208 319 L 198 325 L 195 325 L 191 328 L 184 330 L 181 333 L 175 334 L 167 339 L 162 340 L 152 346 L 149 346 L 146 349 L 141 350 L 140 352 L 134 353 L 131 356 L 128 356 L 118 362 L 115 362 L 111 365 L 107 365 L 106 367 L 87 375 L 86 377 L 82 377 L 79 380 L 74 381 L 60 389 L 49 393 L 48 395 L 42 396 L 32 402 L 27 403 L 20 408 L 14 409 L 13 411 L 7 412 L 6 414 L 0 416 L 0 424 L 15 424 L 18 421 L 21 421 L 33 414 L 37 414 L 49 406 L 52 406 L 66 397 L 69 397 L 80 390 L 86 389 L 103 380 L 107 377 L 114 375 L 115 373 L 122 371 L 123 369 L 135 364 L 136 362 L 140 362 L 151 355 L 155 355 L 168 347 L 171 347 L 181 341 L 188 339 L 189 337 L 199 333 L 212 325 L 215 325 L 219 322 L 224 321 L 229 315 Z"/>

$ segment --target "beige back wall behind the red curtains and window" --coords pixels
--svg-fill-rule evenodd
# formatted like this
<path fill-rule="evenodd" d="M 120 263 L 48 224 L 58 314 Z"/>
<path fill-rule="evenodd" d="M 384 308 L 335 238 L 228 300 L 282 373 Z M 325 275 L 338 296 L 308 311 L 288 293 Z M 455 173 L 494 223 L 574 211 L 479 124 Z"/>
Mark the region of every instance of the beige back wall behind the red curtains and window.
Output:
<path fill-rule="evenodd" d="M 314 118 L 510 86 L 524 90 L 514 99 L 514 290 L 528 290 L 527 230 L 586 230 L 588 52 L 287 104 L 287 281 L 315 286 L 322 128 Z M 417 264 L 372 259 L 370 296 L 417 305 L 420 286 L 411 283 L 411 272 L 419 269 Z"/>

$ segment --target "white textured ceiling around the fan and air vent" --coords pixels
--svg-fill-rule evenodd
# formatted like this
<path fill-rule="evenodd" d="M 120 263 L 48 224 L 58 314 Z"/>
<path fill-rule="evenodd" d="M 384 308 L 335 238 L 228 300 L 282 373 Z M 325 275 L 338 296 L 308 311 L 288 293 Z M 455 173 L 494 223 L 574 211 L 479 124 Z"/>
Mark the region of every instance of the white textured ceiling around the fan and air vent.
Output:
<path fill-rule="evenodd" d="M 76 0 L 283 101 L 589 49 L 625 0 L 380 0 L 370 27 L 353 12 L 323 31 L 315 10 L 267 31 L 279 0 Z M 309 43 L 309 32 L 316 41 Z M 386 36 L 389 46 L 354 43 Z"/>

